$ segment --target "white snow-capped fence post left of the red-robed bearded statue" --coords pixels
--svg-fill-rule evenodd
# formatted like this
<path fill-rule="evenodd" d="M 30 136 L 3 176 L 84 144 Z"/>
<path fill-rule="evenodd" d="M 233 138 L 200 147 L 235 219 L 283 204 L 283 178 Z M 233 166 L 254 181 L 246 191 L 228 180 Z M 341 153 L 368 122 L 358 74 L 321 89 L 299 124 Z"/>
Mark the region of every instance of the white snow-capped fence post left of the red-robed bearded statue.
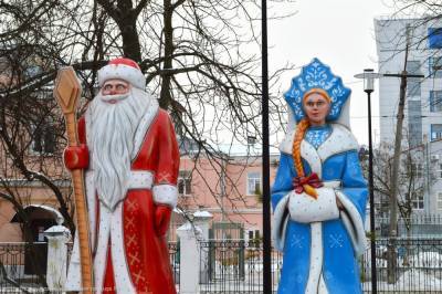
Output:
<path fill-rule="evenodd" d="M 48 239 L 46 283 L 51 292 L 62 293 L 66 284 L 67 242 L 71 231 L 61 225 L 53 225 L 44 231 Z"/>

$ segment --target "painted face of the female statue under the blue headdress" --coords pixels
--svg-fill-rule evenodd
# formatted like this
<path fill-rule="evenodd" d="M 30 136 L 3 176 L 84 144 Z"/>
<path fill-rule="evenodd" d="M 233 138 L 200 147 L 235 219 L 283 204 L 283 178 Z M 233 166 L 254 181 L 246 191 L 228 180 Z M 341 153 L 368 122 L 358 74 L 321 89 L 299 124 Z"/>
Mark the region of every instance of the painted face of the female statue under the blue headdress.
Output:
<path fill-rule="evenodd" d="M 312 93 L 304 99 L 304 112 L 311 125 L 320 126 L 330 111 L 330 103 L 319 93 Z"/>

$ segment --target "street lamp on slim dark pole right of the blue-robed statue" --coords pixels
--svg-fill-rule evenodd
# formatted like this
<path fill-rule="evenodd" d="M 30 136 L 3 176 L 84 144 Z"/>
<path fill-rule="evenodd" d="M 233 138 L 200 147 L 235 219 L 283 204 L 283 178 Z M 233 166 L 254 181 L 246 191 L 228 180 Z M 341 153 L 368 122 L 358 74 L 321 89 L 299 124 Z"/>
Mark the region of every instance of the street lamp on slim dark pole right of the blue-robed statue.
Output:
<path fill-rule="evenodd" d="M 375 196 L 373 196 L 373 175 L 372 175 L 372 141 L 371 141 L 371 93 L 375 92 L 375 78 L 380 75 L 371 69 L 364 70 L 364 73 L 355 75 L 364 78 L 364 92 L 367 93 L 368 101 L 368 180 L 370 191 L 370 248 L 371 248 L 371 292 L 377 293 L 376 277 L 376 243 L 375 243 Z"/>

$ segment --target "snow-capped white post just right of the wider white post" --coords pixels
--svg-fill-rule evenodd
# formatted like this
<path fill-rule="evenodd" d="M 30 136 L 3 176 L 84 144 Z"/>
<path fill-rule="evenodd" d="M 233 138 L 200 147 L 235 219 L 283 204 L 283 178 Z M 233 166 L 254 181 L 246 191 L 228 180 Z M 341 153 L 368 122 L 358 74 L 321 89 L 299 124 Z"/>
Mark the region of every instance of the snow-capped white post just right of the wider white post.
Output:
<path fill-rule="evenodd" d="M 202 235 L 201 241 L 209 241 L 209 228 L 210 221 L 213 216 L 208 211 L 196 211 L 193 213 L 193 223 L 201 229 Z M 207 283 L 209 281 L 209 246 L 204 246 L 200 252 L 200 283 Z"/>

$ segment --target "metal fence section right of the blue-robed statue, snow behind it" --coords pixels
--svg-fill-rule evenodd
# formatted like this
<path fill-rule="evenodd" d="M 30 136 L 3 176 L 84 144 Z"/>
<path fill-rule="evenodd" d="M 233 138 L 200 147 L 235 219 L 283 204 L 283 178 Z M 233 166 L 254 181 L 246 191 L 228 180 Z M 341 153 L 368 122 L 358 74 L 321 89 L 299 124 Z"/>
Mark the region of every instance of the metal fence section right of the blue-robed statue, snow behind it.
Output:
<path fill-rule="evenodd" d="M 442 293 L 442 239 L 376 240 L 376 272 L 378 293 Z M 369 249 L 361 280 L 364 292 L 371 293 Z"/>

